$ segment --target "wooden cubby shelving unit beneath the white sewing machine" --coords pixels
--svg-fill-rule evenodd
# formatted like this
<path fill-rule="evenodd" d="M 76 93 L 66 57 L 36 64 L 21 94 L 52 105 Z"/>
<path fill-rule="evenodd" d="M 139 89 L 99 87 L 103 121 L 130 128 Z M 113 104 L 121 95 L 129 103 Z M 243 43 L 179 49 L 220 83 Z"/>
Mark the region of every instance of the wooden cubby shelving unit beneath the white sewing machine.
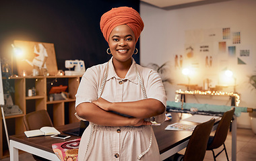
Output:
<path fill-rule="evenodd" d="M 30 113 L 31 109 L 28 110 L 28 107 L 34 107 L 33 111 L 38 111 L 40 109 L 49 110 L 52 109 L 52 121 L 53 125 L 64 125 L 65 119 L 69 120 L 68 123 L 74 123 L 79 121 L 74 113 L 75 113 L 75 94 L 77 92 L 80 78 L 82 76 L 18 76 L 11 77 L 9 79 L 14 80 L 15 86 L 15 95 L 13 98 L 15 105 L 18 105 L 20 109 L 23 111 L 23 114 L 20 115 L 11 115 L 5 117 L 5 119 L 14 119 L 15 120 L 15 134 L 23 133 L 25 131 L 23 116 L 26 113 Z M 67 82 L 67 91 L 69 93 L 69 99 L 58 100 L 58 101 L 49 101 L 48 100 L 48 91 L 47 91 L 47 83 L 52 79 L 61 79 Z M 67 81 L 66 81 L 67 80 Z M 36 96 L 28 97 L 27 92 L 28 89 L 35 87 Z M 32 103 L 30 103 L 32 101 Z M 68 109 L 68 110 L 65 110 Z M 68 111 L 68 113 L 65 113 Z M 66 114 L 66 115 L 65 115 Z M 65 116 L 68 115 L 68 118 Z M 7 124 L 8 127 L 8 124 Z M 3 147 L 4 140 L 3 135 L 5 135 L 3 131 L 3 118 L 1 116 L 0 123 L 0 158 L 5 158 L 9 155 L 8 149 Z"/>

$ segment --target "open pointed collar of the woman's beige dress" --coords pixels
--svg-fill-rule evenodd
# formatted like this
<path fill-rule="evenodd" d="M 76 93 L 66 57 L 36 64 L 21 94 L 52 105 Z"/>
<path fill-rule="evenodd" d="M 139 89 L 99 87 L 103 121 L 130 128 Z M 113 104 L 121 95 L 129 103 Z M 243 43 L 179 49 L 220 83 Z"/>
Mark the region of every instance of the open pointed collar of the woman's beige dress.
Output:
<path fill-rule="evenodd" d="M 135 84 L 138 83 L 137 76 L 136 76 L 136 70 L 135 70 L 136 62 L 132 58 L 132 64 L 131 67 L 129 68 L 125 78 L 122 78 L 122 80 L 129 80 Z M 113 65 L 113 57 L 108 61 L 108 77 L 106 80 L 109 80 L 110 78 L 120 78 L 117 73 L 115 72 L 115 68 Z"/>

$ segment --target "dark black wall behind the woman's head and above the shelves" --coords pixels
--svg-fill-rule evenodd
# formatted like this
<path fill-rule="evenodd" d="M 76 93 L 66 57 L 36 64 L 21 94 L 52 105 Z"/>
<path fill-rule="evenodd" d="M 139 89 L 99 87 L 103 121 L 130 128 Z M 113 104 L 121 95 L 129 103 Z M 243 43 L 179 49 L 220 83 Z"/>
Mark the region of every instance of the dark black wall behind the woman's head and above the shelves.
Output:
<path fill-rule="evenodd" d="M 100 17 L 120 6 L 139 11 L 139 0 L 1 0 L 1 58 L 10 59 L 13 40 L 26 40 L 53 43 L 59 70 L 65 70 L 65 60 L 84 60 L 86 68 L 106 62 Z M 133 58 L 139 63 L 139 54 Z"/>

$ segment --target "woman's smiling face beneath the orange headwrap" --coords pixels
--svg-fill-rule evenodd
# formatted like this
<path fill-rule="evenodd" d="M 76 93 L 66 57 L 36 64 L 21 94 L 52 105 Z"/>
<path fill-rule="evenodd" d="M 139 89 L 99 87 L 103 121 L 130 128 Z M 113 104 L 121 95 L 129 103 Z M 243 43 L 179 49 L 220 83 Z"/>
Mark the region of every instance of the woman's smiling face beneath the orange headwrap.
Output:
<path fill-rule="evenodd" d="M 131 62 L 131 56 L 135 50 L 135 36 L 128 25 L 118 25 L 109 36 L 109 48 L 113 55 L 113 63 Z"/>

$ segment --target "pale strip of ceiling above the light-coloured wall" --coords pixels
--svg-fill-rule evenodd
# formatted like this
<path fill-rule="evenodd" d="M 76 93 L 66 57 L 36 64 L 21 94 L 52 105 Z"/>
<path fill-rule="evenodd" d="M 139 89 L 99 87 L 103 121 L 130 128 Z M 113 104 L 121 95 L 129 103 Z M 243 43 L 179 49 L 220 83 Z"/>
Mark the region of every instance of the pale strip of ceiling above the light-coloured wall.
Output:
<path fill-rule="evenodd" d="M 205 5 L 209 3 L 216 3 L 230 0 L 140 0 L 144 3 L 154 5 L 162 9 L 179 9 L 184 7 L 192 7 L 195 5 Z"/>

